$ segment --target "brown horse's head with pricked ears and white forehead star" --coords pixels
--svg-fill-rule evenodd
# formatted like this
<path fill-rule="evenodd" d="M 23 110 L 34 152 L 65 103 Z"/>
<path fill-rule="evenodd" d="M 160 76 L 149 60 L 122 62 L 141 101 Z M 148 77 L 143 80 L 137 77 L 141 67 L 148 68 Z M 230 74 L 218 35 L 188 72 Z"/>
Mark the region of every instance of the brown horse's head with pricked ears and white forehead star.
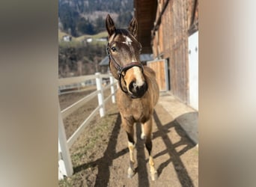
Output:
<path fill-rule="evenodd" d="M 115 28 L 113 19 L 106 17 L 106 29 L 109 43 L 109 68 L 124 93 L 133 99 L 144 96 L 147 82 L 144 79 L 143 65 L 139 59 L 141 43 L 136 40 L 138 23 L 135 18 L 129 23 L 128 29 Z"/>

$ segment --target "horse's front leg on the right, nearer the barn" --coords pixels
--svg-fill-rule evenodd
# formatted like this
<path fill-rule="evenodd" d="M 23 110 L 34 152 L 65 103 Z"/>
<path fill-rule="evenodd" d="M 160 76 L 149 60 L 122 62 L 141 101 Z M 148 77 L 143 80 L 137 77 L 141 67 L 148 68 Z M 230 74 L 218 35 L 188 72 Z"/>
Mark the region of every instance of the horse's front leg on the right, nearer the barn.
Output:
<path fill-rule="evenodd" d="M 148 120 L 146 123 L 142 125 L 142 133 L 144 134 L 143 138 L 145 141 L 145 146 L 147 148 L 147 152 L 149 155 L 149 165 L 150 165 L 150 176 L 152 180 L 156 180 L 158 178 L 157 171 L 155 169 L 155 164 L 153 162 L 153 156 L 151 156 L 152 151 L 152 117 L 150 117 L 150 120 Z M 142 135 L 141 135 L 142 136 Z"/>

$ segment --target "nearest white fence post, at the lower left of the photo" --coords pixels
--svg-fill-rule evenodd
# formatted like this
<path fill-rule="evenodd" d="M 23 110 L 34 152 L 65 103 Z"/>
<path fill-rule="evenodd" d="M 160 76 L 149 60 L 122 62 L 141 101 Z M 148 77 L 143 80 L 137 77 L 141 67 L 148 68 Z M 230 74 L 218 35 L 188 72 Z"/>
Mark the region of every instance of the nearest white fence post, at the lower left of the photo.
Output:
<path fill-rule="evenodd" d="M 61 108 L 58 104 L 58 152 L 61 155 L 58 160 L 59 174 L 70 177 L 73 174 L 73 165 L 70 158 L 70 151 L 67 147 L 67 137 L 64 129 L 64 124 L 61 116 Z M 60 153 L 61 152 L 61 153 Z M 59 179 L 62 176 L 58 177 Z"/>

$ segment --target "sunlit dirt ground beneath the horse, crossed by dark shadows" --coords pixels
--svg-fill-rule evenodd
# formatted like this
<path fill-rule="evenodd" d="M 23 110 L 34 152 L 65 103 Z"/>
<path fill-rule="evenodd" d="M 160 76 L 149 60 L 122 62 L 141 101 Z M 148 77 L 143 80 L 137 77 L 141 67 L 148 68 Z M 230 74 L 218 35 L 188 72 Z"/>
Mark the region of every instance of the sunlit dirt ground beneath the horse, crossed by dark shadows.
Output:
<path fill-rule="evenodd" d="M 61 109 L 91 91 L 59 96 Z M 64 120 L 67 138 L 96 106 L 97 97 Z M 198 186 L 198 147 L 162 105 L 157 104 L 153 114 L 152 155 L 159 175 L 156 181 L 150 179 L 148 154 L 139 138 L 139 124 L 135 131 L 137 168 L 135 176 L 129 179 L 127 135 L 121 128 L 117 105 L 108 102 L 106 116 L 95 117 L 70 148 L 74 174 L 60 180 L 59 186 Z"/>

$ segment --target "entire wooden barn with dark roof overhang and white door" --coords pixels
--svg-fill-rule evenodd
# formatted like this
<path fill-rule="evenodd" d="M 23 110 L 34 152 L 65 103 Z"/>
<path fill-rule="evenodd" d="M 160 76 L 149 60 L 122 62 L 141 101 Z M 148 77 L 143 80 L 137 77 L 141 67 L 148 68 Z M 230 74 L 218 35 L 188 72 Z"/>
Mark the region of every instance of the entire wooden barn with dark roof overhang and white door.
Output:
<path fill-rule="evenodd" d="M 135 0 L 138 41 L 168 90 L 198 110 L 198 1 Z"/>

